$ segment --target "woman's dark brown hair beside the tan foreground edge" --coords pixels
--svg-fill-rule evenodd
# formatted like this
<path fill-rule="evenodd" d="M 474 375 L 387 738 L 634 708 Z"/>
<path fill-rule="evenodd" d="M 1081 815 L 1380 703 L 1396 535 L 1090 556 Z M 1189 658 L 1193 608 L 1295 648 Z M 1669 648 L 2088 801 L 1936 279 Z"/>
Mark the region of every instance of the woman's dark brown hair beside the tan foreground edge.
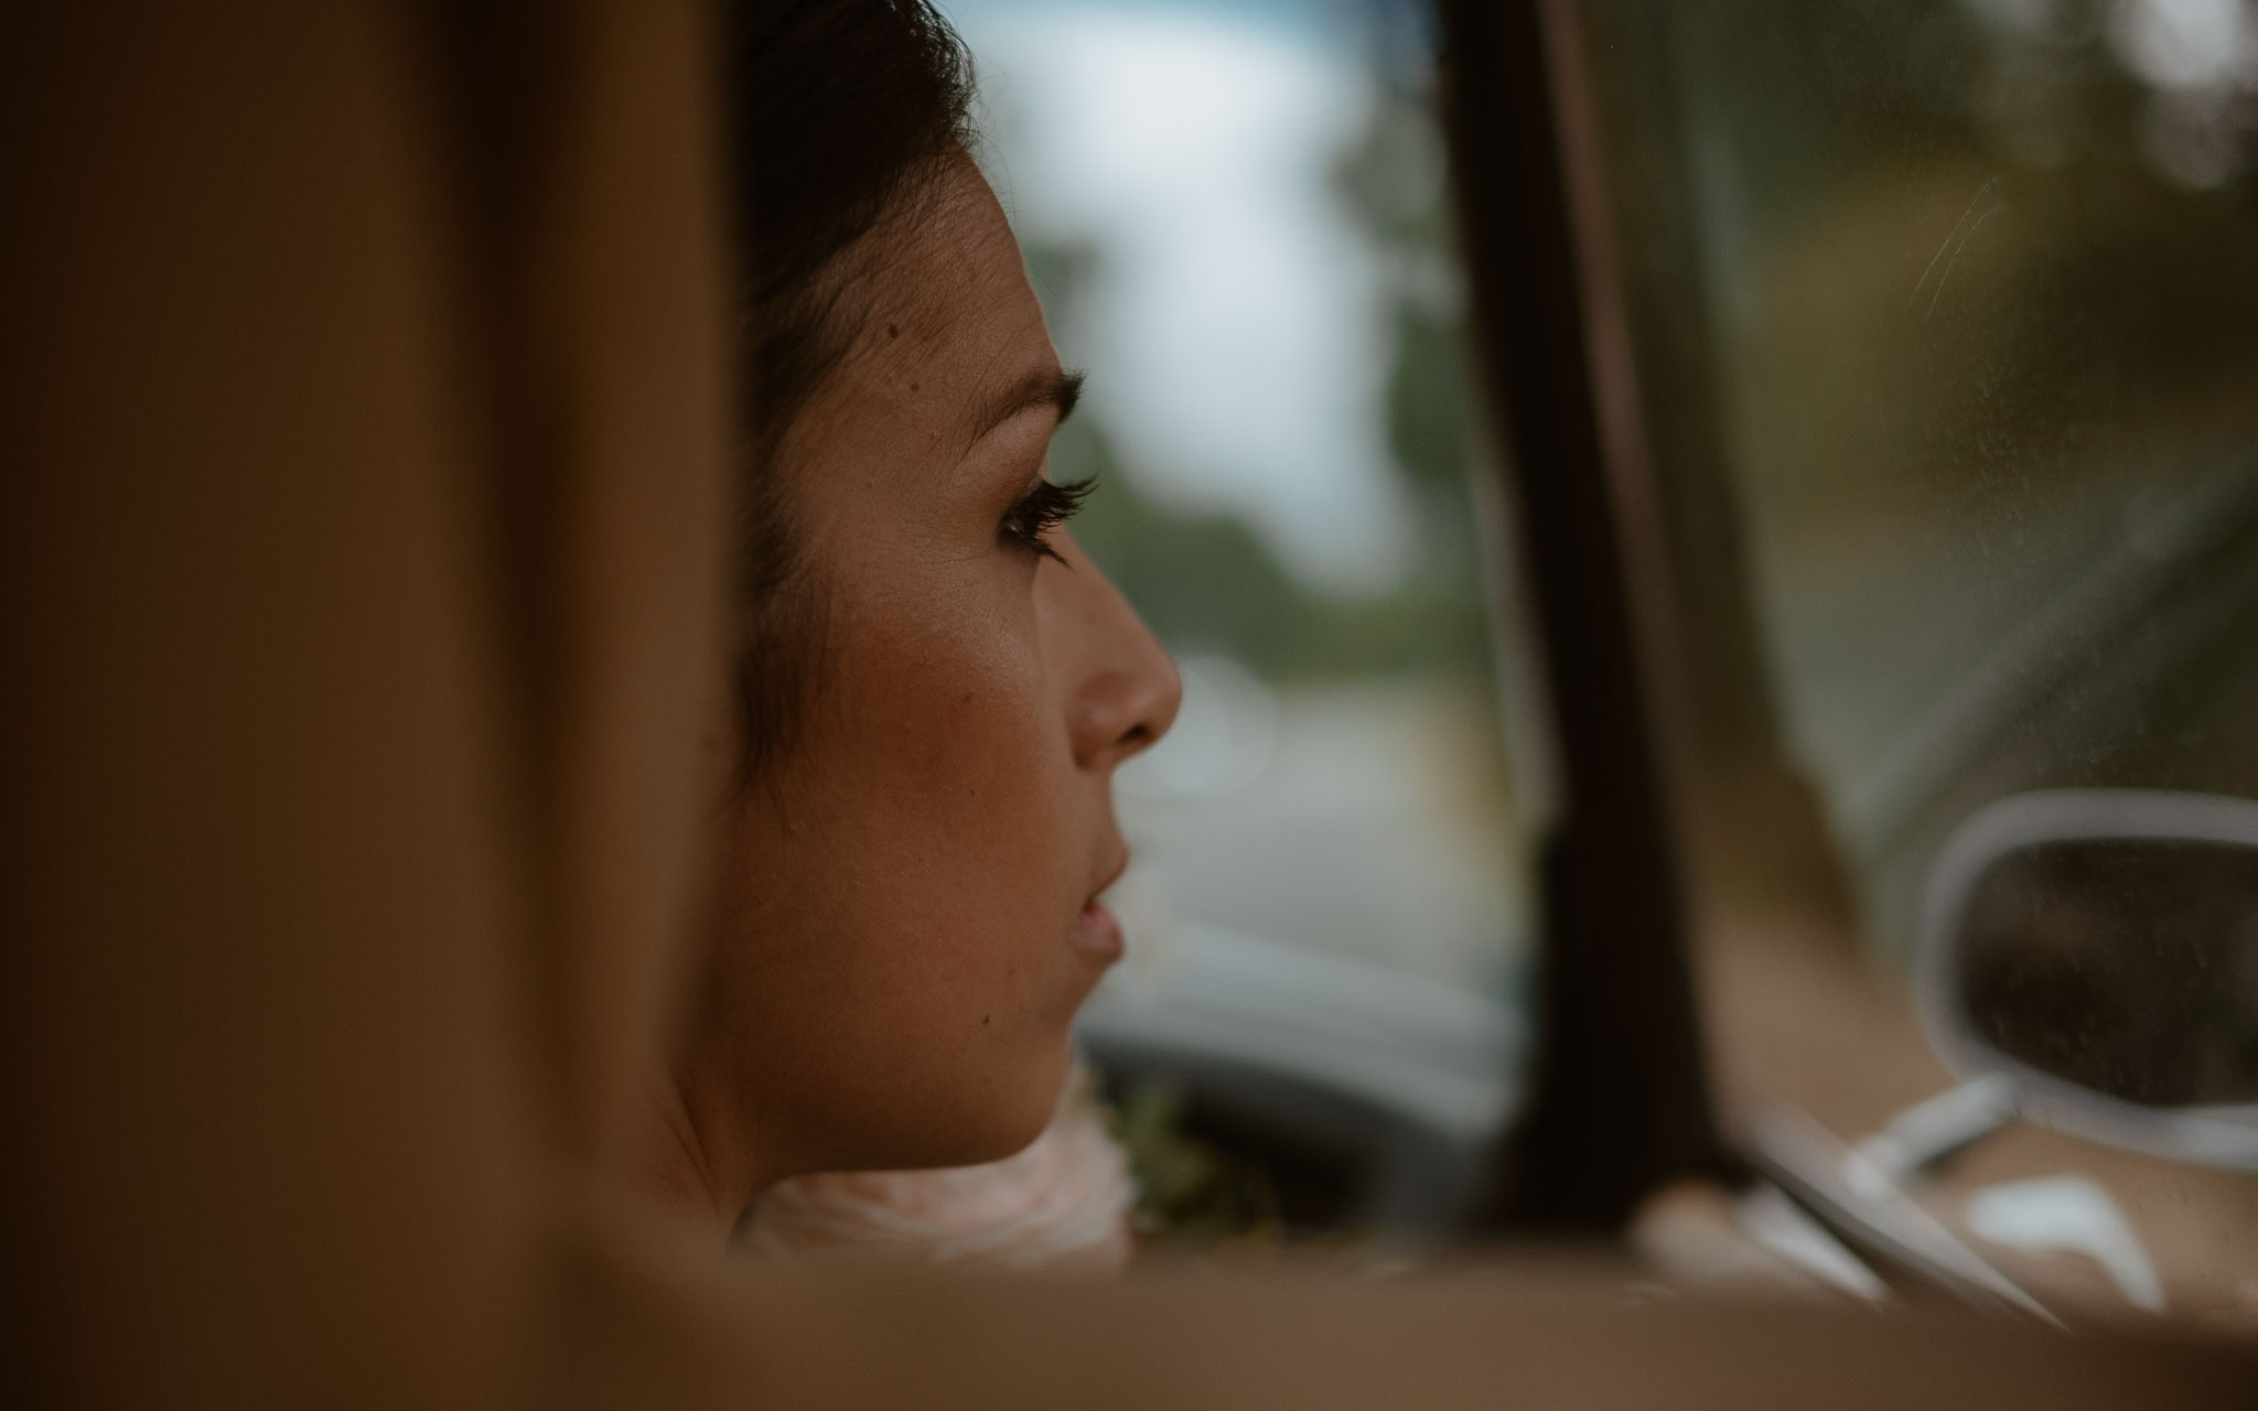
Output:
<path fill-rule="evenodd" d="M 869 269 L 847 253 L 971 144 L 973 70 L 926 0 L 738 0 L 725 25 L 743 388 L 736 695 L 752 783 L 788 747 L 822 655 L 779 472 L 786 438 L 860 327 Z"/>

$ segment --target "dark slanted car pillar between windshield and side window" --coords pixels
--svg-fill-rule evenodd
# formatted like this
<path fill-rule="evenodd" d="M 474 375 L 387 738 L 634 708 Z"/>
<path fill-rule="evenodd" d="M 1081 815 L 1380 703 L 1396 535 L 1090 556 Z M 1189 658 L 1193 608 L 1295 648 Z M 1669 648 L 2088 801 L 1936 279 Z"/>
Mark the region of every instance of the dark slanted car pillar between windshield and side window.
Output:
<path fill-rule="evenodd" d="M 1497 422 L 1558 770 L 1558 815 L 1540 844 L 1538 1048 L 1486 1224 L 1612 1233 L 1669 1181 L 1741 1172 L 1712 1102 L 1691 964 L 1694 849 L 1687 790 L 1671 779 L 1673 752 L 1689 752 L 1666 738 L 1687 727 L 1687 702 L 1657 664 L 1678 585 L 1660 544 L 1666 508 L 1576 9 L 1441 0 L 1438 20 L 1477 377 Z M 1696 607 L 1754 643 L 1730 553 L 1709 580 L 1718 587 Z M 1712 716 L 1739 720 L 1750 754 L 1766 754 L 1768 720 L 1745 725 L 1748 702 L 1768 702 L 1752 646 L 1712 680 L 1741 702 L 1739 716 Z"/>

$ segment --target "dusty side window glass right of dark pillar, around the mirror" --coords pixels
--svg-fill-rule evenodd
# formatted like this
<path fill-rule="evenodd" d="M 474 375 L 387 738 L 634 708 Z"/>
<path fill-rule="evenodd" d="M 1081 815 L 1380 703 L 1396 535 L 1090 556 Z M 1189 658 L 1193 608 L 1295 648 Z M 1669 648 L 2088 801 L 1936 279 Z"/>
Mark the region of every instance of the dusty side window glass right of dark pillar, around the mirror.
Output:
<path fill-rule="evenodd" d="M 1578 16 L 1655 476 L 1723 467 L 1770 727 L 1861 953 L 1836 989 L 1786 978 L 1833 946 L 1793 926 L 1757 978 L 1716 962 L 1730 1097 L 1745 1120 L 1791 1095 L 1858 1138 L 1946 1079 L 1906 975 L 1924 883 L 1978 810 L 2064 788 L 2258 797 L 2258 7 Z M 1691 582 L 1718 537 L 1662 515 Z M 1698 680 L 1700 632 L 1680 646 Z M 1712 853 L 1770 847 L 1754 815 L 1707 824 Z M 2165 1285 L 2233 1303 L 2258 1273 L 2235 1178 L 2021 1151 L 1978 1149 L 1935 1208 L 1960 1221 L 1969 1187 L 2048 1165 L 2120 1172 Z"/>

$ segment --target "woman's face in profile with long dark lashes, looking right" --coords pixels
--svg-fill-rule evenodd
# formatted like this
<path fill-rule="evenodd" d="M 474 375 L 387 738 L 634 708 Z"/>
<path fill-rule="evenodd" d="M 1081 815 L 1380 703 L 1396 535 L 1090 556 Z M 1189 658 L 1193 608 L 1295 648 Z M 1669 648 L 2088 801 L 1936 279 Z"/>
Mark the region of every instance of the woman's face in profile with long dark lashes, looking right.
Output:
<path fill-rule="evenodd" d="M 1174 666 L 1043 524 L 1073 384 L 969 160 L 849 266 L 856 339 L 793 424 L 813 610 L 799 729 L 723 840 L 684 1075 L 756 1178 L 960 1165 L 1030 1142 L 1120 953 L 1111 774 Z"/>

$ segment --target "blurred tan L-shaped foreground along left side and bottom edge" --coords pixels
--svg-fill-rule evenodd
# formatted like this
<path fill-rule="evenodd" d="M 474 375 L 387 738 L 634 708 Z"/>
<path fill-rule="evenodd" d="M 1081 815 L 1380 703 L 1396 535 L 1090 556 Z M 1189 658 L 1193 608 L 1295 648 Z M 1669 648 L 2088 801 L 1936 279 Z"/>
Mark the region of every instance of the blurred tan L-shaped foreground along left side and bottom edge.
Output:
<path fill-rule="evenodd" d="M 709 797 L 709 16 L 0 43 L 0 1402 L 2233 1404 L 2211 1348 L 1565 1287 L 851 1282 L 632 1192 Z"/>

